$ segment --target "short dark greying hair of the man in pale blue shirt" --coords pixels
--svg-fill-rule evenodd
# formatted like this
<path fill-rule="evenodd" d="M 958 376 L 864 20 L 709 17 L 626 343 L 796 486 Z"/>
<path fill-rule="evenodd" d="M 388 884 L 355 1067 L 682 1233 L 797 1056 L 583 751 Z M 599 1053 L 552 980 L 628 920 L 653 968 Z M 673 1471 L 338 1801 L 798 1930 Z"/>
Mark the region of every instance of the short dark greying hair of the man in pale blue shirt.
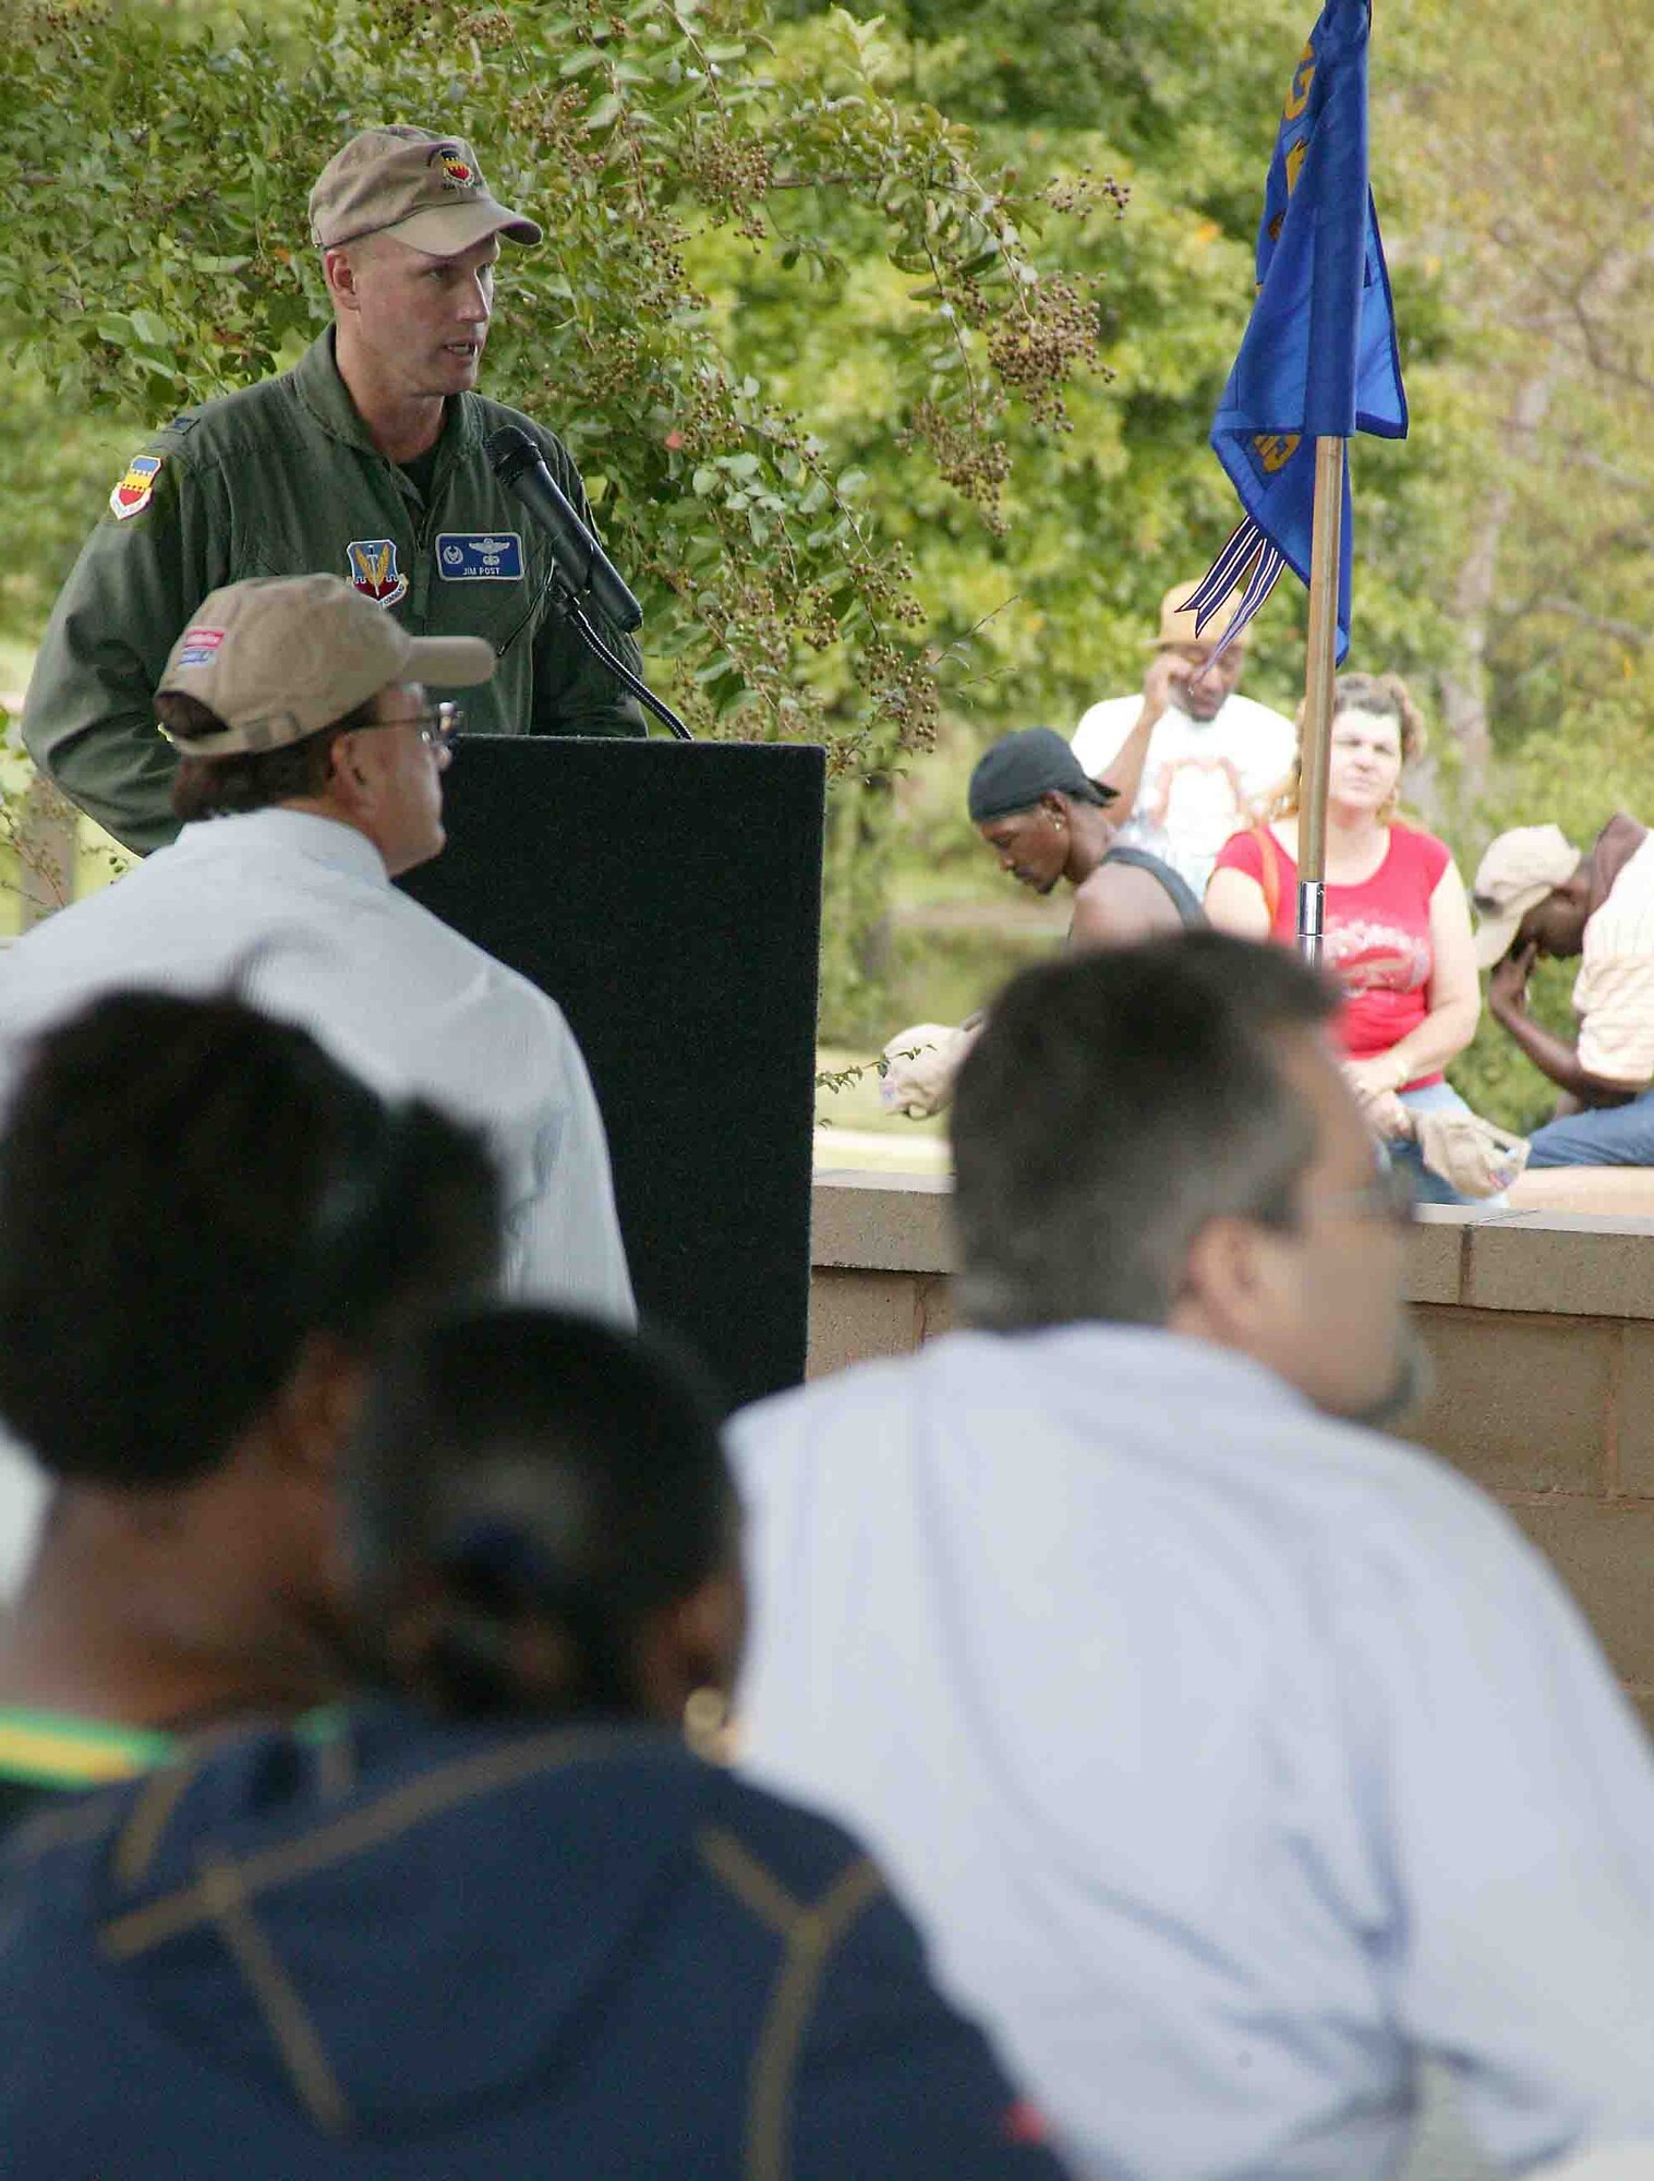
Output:
<path fill-rule="evenodd" d="M 964 1315 L 1163 1324 L 1211 1219 L 1290 1224 L 1316 1117 L 1279 1047 L 1333 1005 L 1294 955 L 1215 931 L 1017 977 L 954 1095 Z"/>

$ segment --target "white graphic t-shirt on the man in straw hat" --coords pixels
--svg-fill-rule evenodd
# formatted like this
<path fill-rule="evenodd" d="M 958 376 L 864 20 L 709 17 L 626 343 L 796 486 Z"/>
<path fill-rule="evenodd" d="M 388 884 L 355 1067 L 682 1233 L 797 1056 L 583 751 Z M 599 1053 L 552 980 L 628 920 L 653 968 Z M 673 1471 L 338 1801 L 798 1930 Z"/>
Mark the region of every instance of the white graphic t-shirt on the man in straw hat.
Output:
<path fill-rule="evenodd" d="M 1141 709 L 1141 694 L 1115 696 L 1082 715 L 1074 755 L 1091 779 L 1119 757 Z M 1148 737 L 1137 809 L 1119 840 L 1159 855 L 1204 894 L 1218 851 L 1261 816 L 1296 746 L 1292 720 L 1248 696 L 1226 698 L 1211 720 L 1167 707 Z"/>

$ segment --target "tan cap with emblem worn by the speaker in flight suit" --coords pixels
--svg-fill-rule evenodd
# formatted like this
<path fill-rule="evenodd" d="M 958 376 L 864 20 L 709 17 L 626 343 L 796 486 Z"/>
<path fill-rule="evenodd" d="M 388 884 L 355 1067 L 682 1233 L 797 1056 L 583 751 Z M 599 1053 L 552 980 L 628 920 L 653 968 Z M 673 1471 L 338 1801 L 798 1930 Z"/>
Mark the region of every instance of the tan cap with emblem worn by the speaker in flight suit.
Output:
<path fill-rule="evenodd" d="M 454 257 L 484 236 L 539 242 L 539 227 L 498 203 L 463 137 L 395 122 L 362 129 L 336 150 L 310 192 L 316 249 L 395 236 L 432 257 Z"/>

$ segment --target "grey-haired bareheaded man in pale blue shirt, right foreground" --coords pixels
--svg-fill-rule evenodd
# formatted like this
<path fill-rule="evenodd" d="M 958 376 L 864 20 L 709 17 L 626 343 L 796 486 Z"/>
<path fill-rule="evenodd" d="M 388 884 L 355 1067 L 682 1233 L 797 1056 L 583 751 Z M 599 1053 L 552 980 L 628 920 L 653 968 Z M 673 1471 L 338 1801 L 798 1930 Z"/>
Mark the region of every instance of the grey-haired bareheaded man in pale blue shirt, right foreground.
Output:
<path fill-rule="evenodd" d="M 853 1821 L 1089 2181 L 1654 2140 L 1654 1762 L 1508 1518 L 1362 1429 L 1403 1224 L 1327 990 L 1019 977 L 958 1082 L 973 1330 L 748 1409 L 759 1780 Z"/>

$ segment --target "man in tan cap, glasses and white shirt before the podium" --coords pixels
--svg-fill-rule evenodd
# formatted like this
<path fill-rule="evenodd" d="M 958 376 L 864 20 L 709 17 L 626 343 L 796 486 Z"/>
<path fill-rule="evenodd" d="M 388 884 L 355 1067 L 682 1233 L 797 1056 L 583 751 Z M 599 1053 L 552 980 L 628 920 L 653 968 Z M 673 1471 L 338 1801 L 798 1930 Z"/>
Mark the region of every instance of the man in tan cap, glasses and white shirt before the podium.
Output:
<path fill-rule="evenodd" d="M 526 977 L 391 883 L 443 846 L 452 709 L 432 711 L 423 683 L 469 687 L 493 665 L 478 637 L 410 637 L 338 576 L 214 591 L 155 707 L 179 750 L 183 833 L 7 951 L 0 1036 L 15 1051 L 120 986 L 233 986 L 375 1088 L 480 1128 L 504 1180 L 508 1285 L 631 1324 L 574 1034 Z"/>

